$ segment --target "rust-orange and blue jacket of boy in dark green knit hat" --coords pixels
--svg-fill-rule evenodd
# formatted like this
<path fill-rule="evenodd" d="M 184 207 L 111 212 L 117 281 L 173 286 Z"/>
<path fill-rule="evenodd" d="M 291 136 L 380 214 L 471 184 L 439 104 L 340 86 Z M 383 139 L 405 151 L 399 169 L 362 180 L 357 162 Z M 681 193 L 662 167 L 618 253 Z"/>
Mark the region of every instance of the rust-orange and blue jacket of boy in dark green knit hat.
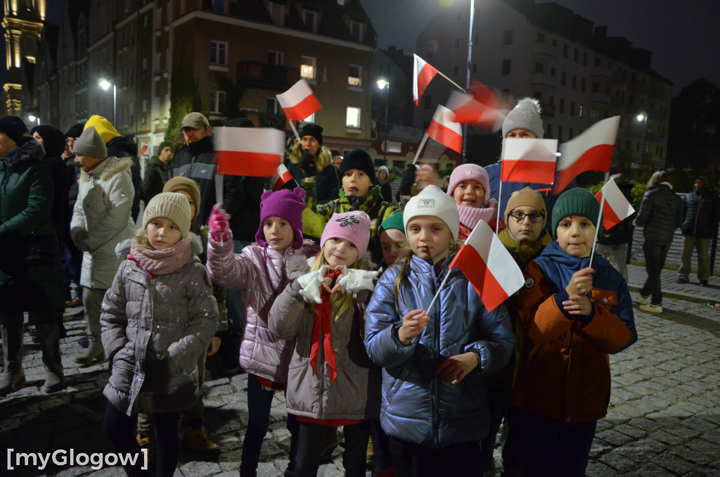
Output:
<path fill-rule="evenodd" d="M 518 294 L 521 342 L 512 405 L 567 424 L 602 419 L 610 402 L 608 354 L 637 341 L 632 301 L 620 273 L 593 257 L 593 313 L 564 312 L 565 287 L 589 257 L 565 253 L 557 242 L 525 269 Z"/>

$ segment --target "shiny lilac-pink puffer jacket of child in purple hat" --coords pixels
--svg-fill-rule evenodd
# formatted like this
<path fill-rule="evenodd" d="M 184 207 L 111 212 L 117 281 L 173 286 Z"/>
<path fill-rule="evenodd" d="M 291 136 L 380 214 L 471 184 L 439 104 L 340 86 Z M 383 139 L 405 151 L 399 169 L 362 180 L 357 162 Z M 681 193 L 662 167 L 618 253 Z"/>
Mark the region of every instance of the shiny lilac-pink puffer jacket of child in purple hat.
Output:
<path fill-rule="evenodd" d="M 307 257 L 318 251 L 317 245 L 306 241 L 300 250 L 289 247 L 281 252 L 251 245 L 235 254 L 232 239 L 220 244 L 208 236 L 207 272 L 210 280 L 221 287 L 243 293 L 245 330 L 240 343 L 240 365 L 248 373 L 273 383 L 287 383 L 287 367 L 295 343 L 286 342 L 271 333 L 268 313 L 288 280 L 310 271 Z"/>

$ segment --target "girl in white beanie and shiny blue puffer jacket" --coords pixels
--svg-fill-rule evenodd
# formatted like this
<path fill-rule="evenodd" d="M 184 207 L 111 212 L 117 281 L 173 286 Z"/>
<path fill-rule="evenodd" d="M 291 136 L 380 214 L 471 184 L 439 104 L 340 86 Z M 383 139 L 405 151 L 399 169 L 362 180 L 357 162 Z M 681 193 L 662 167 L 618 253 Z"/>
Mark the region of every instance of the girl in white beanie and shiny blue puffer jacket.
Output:
<path fill-rule="evenodd" d="M 384 368 L 380 422 L 395 476 L 475 475 L 490 418 L 485 377 L 510 358 L 510 318 L 448 269 L 459 232 L 449 195 L 425 187 L 402 219 L 410 251 L 382 275 L 365 314 L 365 347 Z"/>

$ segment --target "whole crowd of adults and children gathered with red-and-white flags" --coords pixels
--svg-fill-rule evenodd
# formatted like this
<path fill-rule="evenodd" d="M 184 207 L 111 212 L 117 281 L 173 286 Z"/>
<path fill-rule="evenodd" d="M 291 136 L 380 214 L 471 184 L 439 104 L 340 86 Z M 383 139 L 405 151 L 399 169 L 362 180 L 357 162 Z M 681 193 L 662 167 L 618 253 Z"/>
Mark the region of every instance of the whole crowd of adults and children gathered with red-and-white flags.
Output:
<path fill-rule="evenodd" d="M 85 349 L 73 361 L 109 362 L 104 432 L 118 453 L 148 449 L 158 476 L 173 475 L 181 441 L 217 452 L 202 401 L 216 353 L 224 370 L 248 373 L 240 476 L 256 476 L 281 391 L 286 476 L 316 476 L 338 427 L 346 476 L 365 475 L 369 447 L 373 476 L 489 476 L 503 422 L 503 475 L 585 475 L 611 392 L 608 355 L 637 339 L 624 249 L 620 272 L 591 257 L 603 226 L 588 190 L 549 196 L 513 183 L 501 198 L 499 164 L 458 166 L 444 189 L 431 167 L 410 164 L 393 203 L 387 167 L 376 172 L 363 149 L 328 149 L 308 123 L 289 145 L 294 180 L 272 191 L 225 176 L 217 203 L 212 126 L 199 112 L 184 117 L 181 147 L 160 144 L 143 179 L 134 144 L 104 117 L 66 134 L 38 126 L 37 140 L 22 127 L 0 120 L 1 396 L 24 384 L 24 313 L 42 348 L 42 391 L 63 388 L 63 310 L 80 298 Z M 503 125 L 503 138 L 542 133 L 532 99 Z M 672 239 L 661 231 L 685 218 L 688 260 L 697 247 L 707 282 L 704 219 L 690 217 L 718 208 L 704 179 L 685 207 L 666 173 L 651 182 L 634 220 L 647 236 L 642 298 L 657 312 Z M 449 268 L 481 220 L 526 277 L 492 311 Z"/>

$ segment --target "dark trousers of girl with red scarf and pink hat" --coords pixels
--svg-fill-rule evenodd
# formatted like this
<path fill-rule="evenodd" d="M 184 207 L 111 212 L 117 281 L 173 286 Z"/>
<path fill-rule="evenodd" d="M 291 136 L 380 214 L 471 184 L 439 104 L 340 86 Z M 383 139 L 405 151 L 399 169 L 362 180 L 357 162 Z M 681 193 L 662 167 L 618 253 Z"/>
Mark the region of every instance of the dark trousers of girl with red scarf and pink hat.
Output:
<path fill-rule="evenodd" d="M 334 427 L 325 424 L 297 424 L 297 460 L 294 477 L 315 477 L 320 467 L 320 455 L 323 444 L 328 437 L 328 430 Z M 345 450 L 343 452 L 343 468 L 346 477 L 364 477 L 367 440 L 370 435 L 370 423 L 363 421 L 343 427 Z"/>

